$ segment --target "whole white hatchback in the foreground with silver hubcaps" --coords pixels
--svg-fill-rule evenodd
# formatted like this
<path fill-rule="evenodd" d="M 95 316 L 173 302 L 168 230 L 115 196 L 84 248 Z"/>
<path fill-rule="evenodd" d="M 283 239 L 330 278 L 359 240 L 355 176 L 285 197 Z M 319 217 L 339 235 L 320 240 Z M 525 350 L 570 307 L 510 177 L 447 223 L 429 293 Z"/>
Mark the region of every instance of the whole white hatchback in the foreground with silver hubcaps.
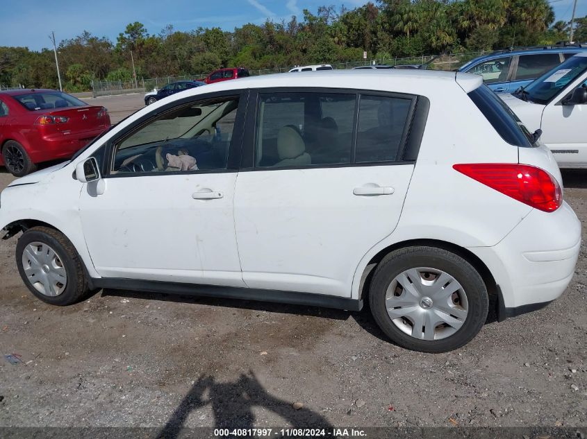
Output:
<path fill-rule="evenodd" d="M 490 295 L 503 320 L 573 275 L 581 226 L 531 140 L 470 74 L 226 81 L 16 180 L 0 227 L 23 232 L 19 273 L 50 304 L 100 288 L 354 311 L 368 298 L 392 341 L 445 352 L 479 332 Z"/>

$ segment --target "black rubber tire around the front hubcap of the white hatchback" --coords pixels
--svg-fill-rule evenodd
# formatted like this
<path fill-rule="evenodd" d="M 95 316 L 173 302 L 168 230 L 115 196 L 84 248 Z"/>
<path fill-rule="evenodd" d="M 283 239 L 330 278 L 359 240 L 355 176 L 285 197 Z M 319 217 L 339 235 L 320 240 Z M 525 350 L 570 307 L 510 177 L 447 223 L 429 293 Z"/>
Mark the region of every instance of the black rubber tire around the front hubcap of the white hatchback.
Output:
<path fill-rule="evenodd" d="M 49 296 L 41 293 L 35 289 L 35 286 L 25 274 L 22 256 L 26 246 L 33 242 L 40 242 L 49 246 L 56 252 L 61 266 L 65 268 L 67 282 L 65 282 L 65 289 L 59 295 Z M 88 279 L 78 252 L 65 235 L 51 227 L 32 227 L 20 236 L 16 246 L 16 263 L 24 284 L 36 298 L 43 302 L 65 306 L 83 300 L 89 293 Z"/>

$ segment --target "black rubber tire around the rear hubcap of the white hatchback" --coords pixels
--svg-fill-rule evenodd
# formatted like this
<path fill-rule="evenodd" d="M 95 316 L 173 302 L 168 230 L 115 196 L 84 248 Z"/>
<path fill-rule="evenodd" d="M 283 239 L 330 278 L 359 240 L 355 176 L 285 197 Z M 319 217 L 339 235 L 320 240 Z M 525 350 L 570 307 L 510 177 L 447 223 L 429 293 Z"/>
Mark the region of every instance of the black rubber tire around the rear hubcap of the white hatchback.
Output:
<path fill-rule="evenodd" d="M 439 340 L 422 340 L 403 332 L 388 315 L 386 293 L 396 276 L 417 267 L 434 268 L 452 276 L 461 284 L 468 301 L 468 313 L 454 334 Z M 475 268 L 463 257 L 436 247 L 408 247 L 395 250 L 377 266 L 369 291 L 371 312 L 377 325 L 397 345 L 409 350 L 440 353 L 455 350 L 468 343 L 483 327 L 488 313 L 488 293 L 485 282 Z"/>

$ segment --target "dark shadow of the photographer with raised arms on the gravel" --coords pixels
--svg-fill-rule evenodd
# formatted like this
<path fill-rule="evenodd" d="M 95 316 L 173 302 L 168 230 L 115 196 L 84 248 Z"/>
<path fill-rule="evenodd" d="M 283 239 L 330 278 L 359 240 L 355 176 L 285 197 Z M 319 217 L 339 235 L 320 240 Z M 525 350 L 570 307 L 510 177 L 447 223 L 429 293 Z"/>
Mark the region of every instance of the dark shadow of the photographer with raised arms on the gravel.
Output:
<path fill-rule="evenodd" d="M 217 429 L 254 429 L 254 407 L 276 413 L 292 428 L 332 428 L 322 415 L 306 407 L 296 410 L 292 402 L 267 393 L 254 372 L 249 371 L 247 375 L 240 375 L 237 381 L 229 383 L 219 383 L 212 376 L 199 377 L 160 431 L 158 438 L 177 438 L 190 413 L 206 406 L 212 409 L 214 426 Z"/>

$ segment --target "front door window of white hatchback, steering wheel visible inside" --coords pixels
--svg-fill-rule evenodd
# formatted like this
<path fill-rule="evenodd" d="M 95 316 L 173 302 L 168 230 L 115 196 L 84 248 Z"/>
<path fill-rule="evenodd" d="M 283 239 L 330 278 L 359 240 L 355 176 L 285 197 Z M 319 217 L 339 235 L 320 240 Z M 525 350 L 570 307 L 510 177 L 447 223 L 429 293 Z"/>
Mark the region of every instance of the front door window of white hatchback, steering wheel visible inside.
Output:
<path fill-rule="evenodd" d="M 231 98 L 165 112 L 116 144 L 110 172 L 226 169 L 237 110 Z"/>

